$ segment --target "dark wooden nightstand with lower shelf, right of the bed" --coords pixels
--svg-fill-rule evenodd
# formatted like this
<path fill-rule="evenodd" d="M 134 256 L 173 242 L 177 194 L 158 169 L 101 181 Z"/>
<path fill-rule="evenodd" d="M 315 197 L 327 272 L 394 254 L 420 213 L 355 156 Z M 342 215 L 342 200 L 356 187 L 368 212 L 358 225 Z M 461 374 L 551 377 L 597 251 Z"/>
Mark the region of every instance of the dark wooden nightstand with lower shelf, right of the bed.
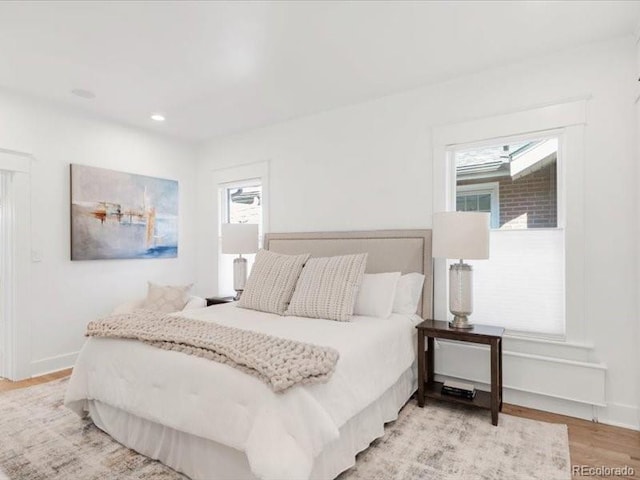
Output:
<path fill-rule="evenodd" d="M 498 412 L 502 410 L 502 335 L 504 328 L 488 325 L 473 325 L 473 329 L 462 330 L 449 327 L 449 322 L 425 320 L 418 329 L 418 406 L 424 399 L 435 398 L 491 410 L 491 423 L 498 425 Z M 427 339 L 427 352 L 424 340 Z M 491 391 L 476 390 L 473 400 L 442 394 L 442 382 L 433 375 L 434 339 L 444 338 L 459 342 L 482 343 L 491 346 Z"/>

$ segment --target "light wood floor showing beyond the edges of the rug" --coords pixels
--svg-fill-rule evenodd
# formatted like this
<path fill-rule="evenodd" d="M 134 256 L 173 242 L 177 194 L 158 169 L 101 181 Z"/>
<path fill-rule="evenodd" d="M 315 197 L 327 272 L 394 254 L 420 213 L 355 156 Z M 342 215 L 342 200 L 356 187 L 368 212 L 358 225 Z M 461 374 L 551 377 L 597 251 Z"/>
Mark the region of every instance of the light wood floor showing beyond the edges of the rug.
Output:
<path fill-rule="evenodd" d="M 0 393 L 16 388 L 39 385 L 70 374 L 71 369 L 68 369 L 21 382 L 0 379 Z M 589 465 L 593 467 L 622 467 L 628 465 L 635 470 L 634 475 L 626 477 L 590 476 L 585 478 L 609 480 L 612 478 L 632 478 L 640 480 L 640 432 L 516 405 L 505 404 L 503 413 L 542 422 L 566 424 L 569 428 L 569 450 L 571 452 L 572 465 Z M 579 476 L 574 478 L 579 478 Z"/>

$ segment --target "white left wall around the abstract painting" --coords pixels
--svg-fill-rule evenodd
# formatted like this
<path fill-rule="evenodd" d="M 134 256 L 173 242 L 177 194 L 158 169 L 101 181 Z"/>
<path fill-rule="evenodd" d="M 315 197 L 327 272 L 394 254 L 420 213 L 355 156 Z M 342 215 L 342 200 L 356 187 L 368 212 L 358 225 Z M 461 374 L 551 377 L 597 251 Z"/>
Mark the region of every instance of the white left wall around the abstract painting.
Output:
<path fill-rule="evenodd" d="M 147 280 L 195 280 L 193 149 L 185 144 L 0 91 L 0 148 L 34 157 L 29 268 L 30 361 L 27 375 L 73 365 L 88 321 L 144 296 Z M 69 164 L 79 163 L 179 181 L 178 258 L 70 261 Z M 24 245 L 26 245 L 25 242 Z M 23 248 L 24 248 L 23 245 Z"/>

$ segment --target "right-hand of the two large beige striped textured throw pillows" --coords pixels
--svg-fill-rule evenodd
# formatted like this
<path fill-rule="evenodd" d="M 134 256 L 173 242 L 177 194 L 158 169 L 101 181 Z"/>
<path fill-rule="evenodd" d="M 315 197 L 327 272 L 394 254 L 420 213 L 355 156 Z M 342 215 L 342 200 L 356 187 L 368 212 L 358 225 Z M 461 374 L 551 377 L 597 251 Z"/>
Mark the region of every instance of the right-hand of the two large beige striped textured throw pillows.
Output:
<path fill-rule="evenodd" d="M 366 265 L 366 253 L 309 259 L 286 315 L 349 321 Z"/>

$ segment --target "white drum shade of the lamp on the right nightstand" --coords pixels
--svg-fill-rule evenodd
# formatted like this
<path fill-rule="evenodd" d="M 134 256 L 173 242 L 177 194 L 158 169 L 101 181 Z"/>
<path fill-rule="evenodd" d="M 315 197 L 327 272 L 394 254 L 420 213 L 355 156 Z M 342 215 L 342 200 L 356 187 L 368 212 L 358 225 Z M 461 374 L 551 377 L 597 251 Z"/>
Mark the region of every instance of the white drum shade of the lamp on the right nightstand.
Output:
<path fill-rule="evenodd" d="M 489 258 L 489 219 L 484 212 L 433 214 L 434 258 Z"/>

